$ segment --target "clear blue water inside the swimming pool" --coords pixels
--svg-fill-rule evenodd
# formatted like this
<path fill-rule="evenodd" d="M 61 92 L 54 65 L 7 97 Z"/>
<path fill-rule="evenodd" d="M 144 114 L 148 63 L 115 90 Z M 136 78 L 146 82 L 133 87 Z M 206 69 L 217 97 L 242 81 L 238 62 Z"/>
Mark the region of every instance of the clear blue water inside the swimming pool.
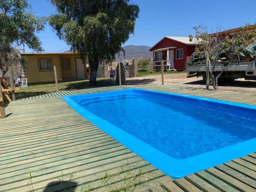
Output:
<path fill-rule="evenodd" d="M 256 135 L 256 122 L 149 95 L 123 94 L 78 102 L 91 113 L 176 159 L 183 159 Z M 181 145 L 182 144 L 182 145 Z"/>

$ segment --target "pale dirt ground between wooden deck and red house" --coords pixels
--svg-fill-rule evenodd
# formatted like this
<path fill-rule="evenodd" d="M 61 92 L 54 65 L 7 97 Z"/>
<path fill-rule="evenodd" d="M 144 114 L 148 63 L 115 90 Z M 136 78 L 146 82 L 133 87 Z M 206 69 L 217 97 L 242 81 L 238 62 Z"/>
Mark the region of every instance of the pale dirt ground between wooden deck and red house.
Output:
<path fill-rule="evenodd" d="M 152 84 L 162 85 L 162 75 L 149 75 L 143 77 L 126 78 L 125 84 Z M 205 89 L 205 82 L 202 77 L 189 77 L 186 73 L 164 74 L 164 85 L 178 85 Z M 213 90 L 213 86 L 210 86 Z M 236 79 L 232 83 L 219 83 L 218 90 L 228 90 L 236 92 L 256 93 L 256 81 Z"/>

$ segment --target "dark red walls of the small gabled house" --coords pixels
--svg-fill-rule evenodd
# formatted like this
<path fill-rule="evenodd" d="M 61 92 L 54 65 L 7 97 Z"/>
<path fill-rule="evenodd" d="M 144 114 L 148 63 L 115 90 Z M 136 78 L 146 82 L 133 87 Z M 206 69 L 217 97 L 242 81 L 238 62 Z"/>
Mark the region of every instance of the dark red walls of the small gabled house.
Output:
<path fill-rule="evenodd" d="M 158 42 L 155 46 L 153 46 L 150 51 L 172 47 L 175 46 L 177 48 L 174 49 L 174 68 L 175 69 L 186 69 L 186 65 L 188 59 L 190 58 L 191 54 L 195 50 L 195 45 L 187 45 L 178 41 L 174 41 L 173 39 L 164 37 L 160 42 Z M 176 50 L 183 49 L 183 59 L 176 59 Z M 157 60 L 156 54 L 154 57 L 154 61 Z M 163 60 L 167 60 L 167 51 L 163 51 Z"/>

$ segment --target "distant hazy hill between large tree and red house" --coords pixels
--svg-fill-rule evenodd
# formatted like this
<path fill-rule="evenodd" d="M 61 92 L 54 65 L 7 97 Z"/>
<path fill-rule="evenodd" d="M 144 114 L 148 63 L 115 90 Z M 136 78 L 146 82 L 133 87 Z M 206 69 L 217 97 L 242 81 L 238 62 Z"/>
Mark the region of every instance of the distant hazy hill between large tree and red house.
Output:
<path fill-rule="evenodd" d="M 153 56 L 153 53 L 149 51 L 151 47 L 145 46 L 145 45 L 127 45 L 123 46 L 123 49 L 125 51 L 125 56 L 121 52 L 120 55 L 116 54 L 116 60 L 115 61 L 124 61 L 124 60 L 131 60 L 134 58 L 151 58 Z"/>

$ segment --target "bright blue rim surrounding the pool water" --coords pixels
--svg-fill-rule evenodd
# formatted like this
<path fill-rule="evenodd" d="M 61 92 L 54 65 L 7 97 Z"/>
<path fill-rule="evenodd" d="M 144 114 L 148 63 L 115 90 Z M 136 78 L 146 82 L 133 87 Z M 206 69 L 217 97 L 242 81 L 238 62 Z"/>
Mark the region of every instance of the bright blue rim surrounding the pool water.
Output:
<path fill-rule="evenodd" d="M 68 105 L 77 111 L 78 114 L 82 115 L 90 122 L 98 126 L 102 131 L 109 134 L 111 137 L 121 142 L 124 146 L 132 150 L 135 154 L 139 155 L 150 164 L 156 166 L 159 170 L 163 171 L 165 174 L 170 175 L 174 179 L 178 179 L 181 177 L 185 177 L 188 174 L 195 173 L 197 171 L 205 170 L 210 167 L 217 166 L 219 164 L 223 164 L 225 162 L 231 161 L 232 159 L 239 158 L 250 153 L 255 152 L 256 146 L 256 138 L 250 139 L 247 141 L 243 141 L 237 143 L 235 145 L 230 145 L 227 147 L 223 147 L 221 149 L 212 150 L 204 154 L 196 155 L 193 157 L 188 157 L 185 159 L 175 159 L 172 158 L 158 149 L 148 145 L 147 143 L 137 139 L 133 135 L 119 129 L 117 126 L 105 121 L 97 115 L 92 114 L 90 111 L 78 105 L 75 101 L 76 99 L 86 99 L 86 98 L 94 98 L 94 97 L 105 97 L 111 95 L 118 94 L 129 94 L 129 93 L 161 93 L 168 94 L 172 97 L 180 97 L 184 100 L 200 100 L 203 102 L 214 102 L 222 109 L 227 108 L 227 105 L 231 108 L 239 110 L 256 113 L 256 106 L 246 105 L 242 103 L 235 103 L 229 101 L 221 101 L 210 98 L 197 97 L 193 95 L 183 95 L 177 93 L 167 93 L 160 91 L 149 91 L 142 89 L 125 89 L 125 90 L 117 90 L 110 92 L 102 92 L 102 93 L 91 93 L 91 94 L 83 94 L 83 95 L 73 95 L 62 97 Z M 222 107 L 221 107 L 222 106 Z M 255 135 L 256 137 L 256 135 Z"/>

